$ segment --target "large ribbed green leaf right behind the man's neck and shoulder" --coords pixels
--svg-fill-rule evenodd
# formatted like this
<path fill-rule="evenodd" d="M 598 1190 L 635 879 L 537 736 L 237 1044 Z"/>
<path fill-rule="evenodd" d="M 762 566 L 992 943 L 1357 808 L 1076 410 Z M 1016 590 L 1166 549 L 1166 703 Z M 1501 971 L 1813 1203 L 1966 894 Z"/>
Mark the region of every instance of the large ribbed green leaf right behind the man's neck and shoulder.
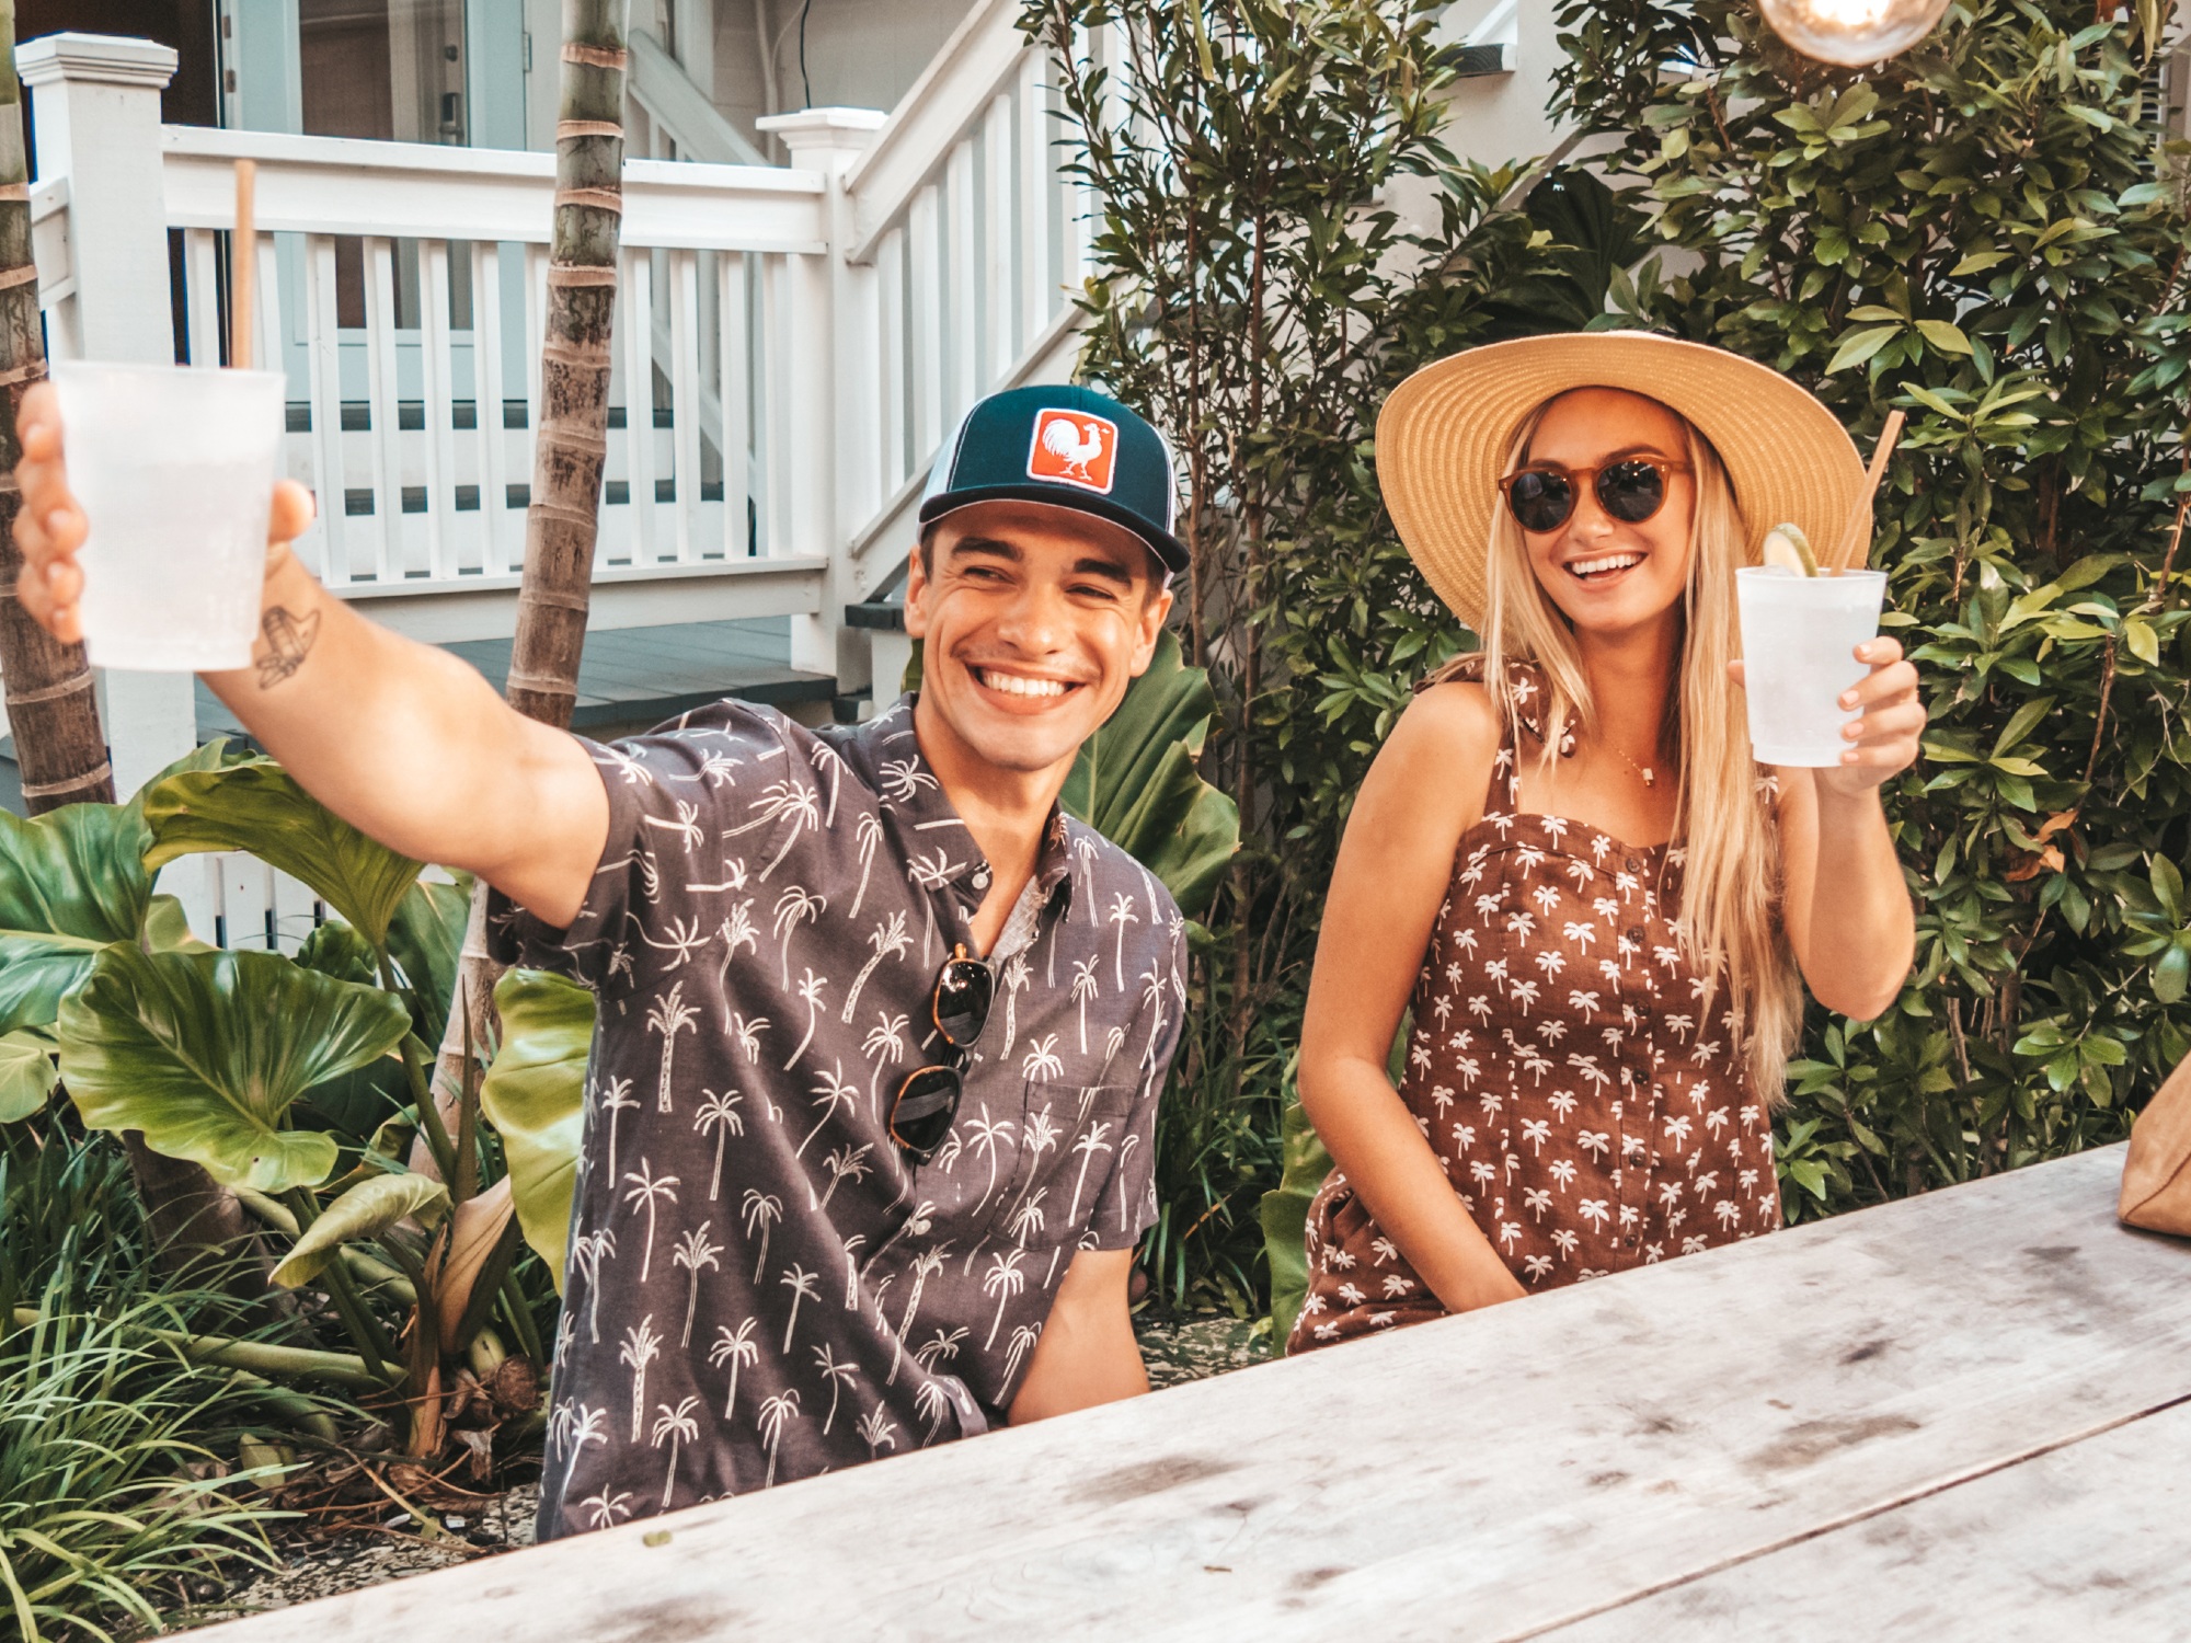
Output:
<path fill-rule="evenodd" d="M 1209 675 L 1185 666 L 1179 640 L 1166 631 L 1148 673 L 1080 745 L 1058 795 L 1071 815 L 1157 874 L 1188 918 L 1209 905 L 1240 848 L 1238 806 L 1194 771 L 1216 705 Z"/>

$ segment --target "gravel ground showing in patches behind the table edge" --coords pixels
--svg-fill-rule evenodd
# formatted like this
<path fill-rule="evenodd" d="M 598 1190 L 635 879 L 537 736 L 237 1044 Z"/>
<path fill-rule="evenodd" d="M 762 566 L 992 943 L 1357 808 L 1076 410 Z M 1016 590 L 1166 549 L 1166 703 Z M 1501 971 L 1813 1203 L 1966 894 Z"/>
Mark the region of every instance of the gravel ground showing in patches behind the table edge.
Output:
<path fill-rule="evenodd" d="M 1253 1323 L 1231 1317 L 1196 1317 L 1144 1321 L 1135 1330 L 1142 1358 L 1148 1363 L 1148 1385 L 1177 1387 L 1185 1380 L 1244 1369 L 1271 1356 L 1269 1336 Z M 486 1496 L 484 1505 L 440 1514 L 443 1531 L 427 1540 L 416 1523 L 390 1507 L 372 1533 L 346 1533 L 337 1540 L 298 1538 L 276 1549 L 289 1564 L 261 1573 L 232 1590 L 217 1608 L 193 1615 L 193 1623 L 256 1615 L 269 1608 L 309 1604 L 316 1597 L 379 1586 L 403 1575 L 486 1558 L 497 1551 L 532 1544 L 532 1514 L 539 1507 L 539 1485 L 526 1483 L 508 1494 Z"/>

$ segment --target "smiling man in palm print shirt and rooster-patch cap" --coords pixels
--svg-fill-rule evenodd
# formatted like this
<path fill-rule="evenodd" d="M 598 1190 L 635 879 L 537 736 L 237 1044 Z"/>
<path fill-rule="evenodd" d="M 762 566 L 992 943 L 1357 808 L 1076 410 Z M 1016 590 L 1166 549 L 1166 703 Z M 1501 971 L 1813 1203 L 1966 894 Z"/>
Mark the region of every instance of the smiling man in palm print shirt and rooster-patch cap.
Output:
<path fill-rule="evenodd" d="M 22 440 L 20 591 L 70 637 L 85 526 L 44 388 Z M 1181 918 L 1056 797 L 1163 629 L 1172 495 L 1122 405 L 997 394 L 920 506 L 918 697 L 596 747 L 320 589 L 285 545 L 311 499 L 278 491 L 265 624 L 302 657 L 210 686 L 600 1001 L 543 1536 L 1148 1389 L 1126 1279 Z"/>

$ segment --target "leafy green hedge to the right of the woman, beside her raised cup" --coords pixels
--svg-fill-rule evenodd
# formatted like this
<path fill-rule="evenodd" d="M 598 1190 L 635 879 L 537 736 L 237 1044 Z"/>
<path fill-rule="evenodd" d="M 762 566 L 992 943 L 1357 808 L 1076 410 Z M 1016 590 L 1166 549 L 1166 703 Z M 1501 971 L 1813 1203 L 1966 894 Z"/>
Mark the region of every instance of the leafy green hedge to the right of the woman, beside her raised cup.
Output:
<path fill-rule="evenodd" d="M 1865 447 L 1911 418 L 1875 563 L 1930 681 L 1886 795 L 1919 957 L 1882 1019 L 1810 1023 L 1792 1214 L 2117 1139 L 2191 1049 L 2169 11 L 1957 0 L 1860 72 L 1740 0 L 1558 13 L 1564 114 L 1680 258 L 1634 320 L 1794 375 Z"/>

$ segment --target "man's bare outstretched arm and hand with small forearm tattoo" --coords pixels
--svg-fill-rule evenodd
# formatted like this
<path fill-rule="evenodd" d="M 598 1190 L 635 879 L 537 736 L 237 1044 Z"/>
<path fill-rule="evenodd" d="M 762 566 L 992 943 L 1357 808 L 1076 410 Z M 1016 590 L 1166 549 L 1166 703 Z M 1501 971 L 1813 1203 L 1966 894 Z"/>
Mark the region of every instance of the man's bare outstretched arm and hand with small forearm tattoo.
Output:
<path fill-rule="evenodd" d="M 22 605 L 77 640 L 85 521 L 61 458 L 50 386 L 22 403 Z M 274 489 L 261 633 L 252 666 L 206 675 L 237 721 L 351 826 L 421 861 L 480 874 L 550 924 L 585 900 L 609 802 L 576 740 L 502 701 L 447 651 L 377 627 L 289 552 L 311 495 Z"/>

